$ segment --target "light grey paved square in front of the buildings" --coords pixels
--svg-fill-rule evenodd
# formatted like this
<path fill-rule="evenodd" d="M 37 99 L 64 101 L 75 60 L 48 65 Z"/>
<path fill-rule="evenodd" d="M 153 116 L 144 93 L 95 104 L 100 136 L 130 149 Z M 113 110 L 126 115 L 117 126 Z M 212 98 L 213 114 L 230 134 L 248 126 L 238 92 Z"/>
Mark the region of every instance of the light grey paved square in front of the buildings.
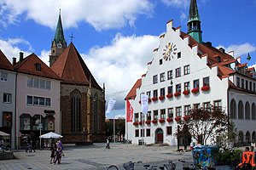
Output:
<path fill-rule="evenodd" d="M 143 161 L 136 165 L 136 169 L 143 169 L 143 164 L 162 165 L 172 160 L 192 161 L 191 152 L 178 154 L 174 146 L 142 146 L 136 144 L 110 144 L 111 149 L 105 149 L 105 144 L 90 146 L 64 145 L 65 156 L 61 164 L 49 164 L 49 150 L 36 152 L 15 151 L 16 159 L 0 161 L 1 170 L 18 169 L 88 169 L 103 170 L 109 165 L 116 165 L 119 169 L 127 161 Z M 178 168 L 177 168 L 178 169 Z"/>

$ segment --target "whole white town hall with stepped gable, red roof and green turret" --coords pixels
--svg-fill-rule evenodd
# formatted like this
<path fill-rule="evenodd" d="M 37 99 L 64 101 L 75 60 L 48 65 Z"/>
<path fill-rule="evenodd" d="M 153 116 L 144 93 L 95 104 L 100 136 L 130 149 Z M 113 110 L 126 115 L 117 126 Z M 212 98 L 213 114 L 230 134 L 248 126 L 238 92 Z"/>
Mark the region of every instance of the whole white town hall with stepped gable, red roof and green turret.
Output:
<path fill-rule="evenodd" d="M 148 71 L 126 96 L 133 118 L 126 123 L 125 137 L 132 144 L 143 139 L 146 144 L 177 145 L 177 121 L 193 107 L 214 105 L 222 106 L 230 121 L 235 122 L 240 142 L 255 141 L 255 83 L 254 68 L 241 64 L 233 52 L 225 53 L 224 48 L 202 42 L 196 0 L 191 0 L 188 33 L 181 27 L 174 28 L 173 20 L 166 23 L 166 33 L 160 36 Z M 141 94 L 148 94 L 144 127 Z"/>

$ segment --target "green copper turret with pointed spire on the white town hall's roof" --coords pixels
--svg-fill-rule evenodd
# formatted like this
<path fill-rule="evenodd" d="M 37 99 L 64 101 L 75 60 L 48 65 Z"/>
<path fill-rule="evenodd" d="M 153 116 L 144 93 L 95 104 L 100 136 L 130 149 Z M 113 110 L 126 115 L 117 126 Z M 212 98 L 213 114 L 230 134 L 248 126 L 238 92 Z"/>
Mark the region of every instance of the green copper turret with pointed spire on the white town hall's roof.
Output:
<path fill-rule="evenodd" d="M 198 13 L 196 0 L 190 0 L 188 34 L 193 37 L 195 41 L 202 43 L 201 37 L 201 20 Z"/>

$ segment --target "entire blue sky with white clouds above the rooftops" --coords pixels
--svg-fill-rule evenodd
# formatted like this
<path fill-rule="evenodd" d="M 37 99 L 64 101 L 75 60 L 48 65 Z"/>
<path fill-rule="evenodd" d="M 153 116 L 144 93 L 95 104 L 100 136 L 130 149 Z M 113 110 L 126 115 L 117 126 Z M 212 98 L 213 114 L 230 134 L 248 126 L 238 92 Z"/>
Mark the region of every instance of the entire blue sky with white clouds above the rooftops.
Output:
<path fill-rule="evenodd" d="M 256 0 L 197 0 L 204 42 L 256 62 Z M 115 115 L 125 114 L 125 95 L 147 70 L 166 22 L 187 31 L 189 0 L 1 0 L 0 48 L 11 61 L 20 51 L 46 64 L 61 7 L 64 35 L 84 58 L 106 98 L 117 99 Z M 252 59 L 247 61 L 247 53 Z M 112 114 L 113 115 L 113 114 Z M 107 116 L 109 117 L 109 116 Z"/>

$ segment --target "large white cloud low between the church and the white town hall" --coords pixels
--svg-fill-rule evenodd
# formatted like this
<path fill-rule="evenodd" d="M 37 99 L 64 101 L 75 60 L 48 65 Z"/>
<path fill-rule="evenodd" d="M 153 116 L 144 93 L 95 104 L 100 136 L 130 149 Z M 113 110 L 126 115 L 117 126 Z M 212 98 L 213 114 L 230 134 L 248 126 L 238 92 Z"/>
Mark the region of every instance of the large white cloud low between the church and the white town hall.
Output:
<path fill-rule="evenodd" d="M 84 62 L 102 85 L 106 83 L 106 99 L 116 99 L 115 109 L 124 109 L 125 96 L 133 84 L 147 71 L 147 63 L 153 59 L 159 37 L 124 37 L 117 34 L 110 45 L 91 48 L 90 54 L 82 54 Z"/>

